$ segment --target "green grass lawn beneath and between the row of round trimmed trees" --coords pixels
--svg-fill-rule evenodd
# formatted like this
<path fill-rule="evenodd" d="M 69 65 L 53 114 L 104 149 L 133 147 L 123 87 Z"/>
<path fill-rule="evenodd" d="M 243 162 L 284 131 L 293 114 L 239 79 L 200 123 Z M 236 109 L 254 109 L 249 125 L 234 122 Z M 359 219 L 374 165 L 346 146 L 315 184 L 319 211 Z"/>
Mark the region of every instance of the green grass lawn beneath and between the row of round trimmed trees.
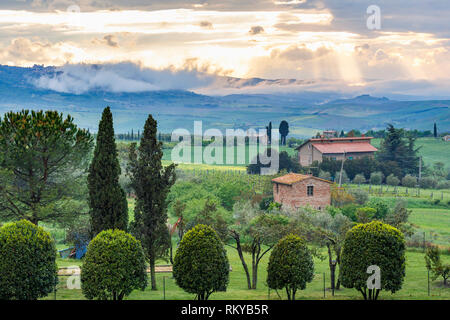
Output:
<path fill-rule="evenodd" d="M 228 258 L 232 266 L 233 271 L 230 272 L 230 282 L 226 292 L 214 293 L 211 299 L 226 299 L 226 300 L 266 300 L 269 297 L 268 288 L 265 284 L 267 272 L 266 267 L 269 256 L 266 255 L 259 267 L 258 288 L 256 290 L 248 290 L 246 287 L 246 277 L 239 260 L 236 250 L 227 248 Z M 406 254 L 406 277 L 403 284 L 403 288 L 391 294 L 390 292 L 381 292 L 380 299 L 450 299 L 450 289 L 440 286 L 440 280 L 432 282 L 431 295 L 427 293 L 427 270 L 425 268 L 424 254 L 420 252 L 408 251 Z M 250 261 L 250 257 L 247 256 L 247 262 Z M 444 261 L 450 262 L 449 256 L 443 256 Z M 70 260 L 66 263 L 64 259 L 58 259 L 60 266 L 73 266 L 77 263 Z M 160 261 L 160 264 L 165 262 Z M 308 284 L 306 290 L 297 293 L 297 299 L 324 299 L 323 291 L 323 274 L 325 273 L 326 292 L 325 299 L 362 299 L 362 296 L 355 289 L 342 288 L 337 291 L 335 296 L 331 296 L 331 291 L 328 289 L 329 284 L 329 269 L 327 260 L 320 261 L 315 259 L 315 277 L 314 280 Z M 165 295 L 167 300 L 191 300 L 194 299 L 194 295 L 185 293 L 178 288 L 175 284 L 175 280 L 171 278 L 171 273 L 158 273 L 157 283 L 158 290 L 152 291 L 149 287 L 145 291 L 133 291 L 128 299 L 133 300 L 163 300 L 163 281 L 166 284 Z M 165 278 L 165 279 L 163 279 Z M 66 281 L 68 277 L 60 277 L 59 289 L 56 293 L 57 299 L 84 299 L 81 290 L 69 290 L 66 287 Z M 286 299 L 284 291 L 279 291 L 281 299 Z M 270 292 L 270 299 L 280 299 L 277 293 L 273 290 Z M 46 299 L 54 299 L 54 294 L 50 294 Z"/>

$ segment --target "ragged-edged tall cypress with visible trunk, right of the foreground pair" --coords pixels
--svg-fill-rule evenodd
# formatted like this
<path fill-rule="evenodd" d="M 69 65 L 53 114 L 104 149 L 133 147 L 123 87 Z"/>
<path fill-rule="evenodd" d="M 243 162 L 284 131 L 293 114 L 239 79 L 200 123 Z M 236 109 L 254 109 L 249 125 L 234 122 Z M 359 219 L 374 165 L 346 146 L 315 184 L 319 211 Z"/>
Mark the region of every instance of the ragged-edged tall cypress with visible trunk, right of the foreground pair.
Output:
<path fill-rule="evenodd" d="M 166 226 L 166 198 L 175 183 L 175 164 L 164 168 L 162 142 L 157 140 L 157 123 L 151 115 L 145 122 L 139 148 L 129 149 L 127 174 L 136 194 L 132 232 L 141 240 L 150 262 L 152 290 L 156 290 L 155 262 L 167 256 L 170 236 Z"/>

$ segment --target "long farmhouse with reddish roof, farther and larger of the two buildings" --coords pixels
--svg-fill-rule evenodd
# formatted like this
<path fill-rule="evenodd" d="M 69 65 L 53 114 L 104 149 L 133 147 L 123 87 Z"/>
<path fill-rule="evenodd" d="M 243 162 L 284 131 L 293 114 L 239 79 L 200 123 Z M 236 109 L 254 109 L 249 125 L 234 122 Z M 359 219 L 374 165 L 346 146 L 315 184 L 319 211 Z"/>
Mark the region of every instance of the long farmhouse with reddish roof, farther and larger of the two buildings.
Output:
<path fill-rule="evenodd" d="M 322 136 L 305 141 L 296 148 L 300 165 L 307 167 L 324 158 L 332 160 L 373 157 L 377 148 L 370 144 L 372 137 L 333 138 Z"/>

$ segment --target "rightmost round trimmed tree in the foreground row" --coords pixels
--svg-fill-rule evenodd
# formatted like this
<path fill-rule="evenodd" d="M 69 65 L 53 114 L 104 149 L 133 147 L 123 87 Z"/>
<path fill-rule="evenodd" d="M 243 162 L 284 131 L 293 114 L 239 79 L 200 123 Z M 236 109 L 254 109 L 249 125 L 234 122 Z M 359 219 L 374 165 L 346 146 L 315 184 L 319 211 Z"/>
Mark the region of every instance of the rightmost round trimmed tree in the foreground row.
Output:
<path fill-rule="evenodd" d="M 379 288 L 368 287 L 370 266 L 380 270 Z M 376 300 L 381 290 L 400 290 L 405 277 L 403 233 L 380 221 L 353 227 L 342 248 L 341 277 L 344 287 L 357 289 L 366 300 Z"/>

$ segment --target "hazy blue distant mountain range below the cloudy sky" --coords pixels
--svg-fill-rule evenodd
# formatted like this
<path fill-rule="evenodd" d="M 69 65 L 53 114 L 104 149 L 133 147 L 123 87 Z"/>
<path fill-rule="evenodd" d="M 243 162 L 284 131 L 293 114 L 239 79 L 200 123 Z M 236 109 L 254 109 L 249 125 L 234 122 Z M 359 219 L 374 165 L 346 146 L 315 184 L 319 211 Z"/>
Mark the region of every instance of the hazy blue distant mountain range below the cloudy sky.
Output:
<path fill-rule="evenodd" d="M 0 114 L 23 108 L 56 109 L 70 113 L 80 126 L 95 132 L 101 111 L 109 105 L 117 133 L 141 129 L 149 113 L 156 117 L 162 132 L 176 128 L 192 130 L 195 120 L 202 120 L 204 129 L 258 129 L 269 121 L 277 127 L 287 120 L 290 135 L 299 137 L 324 129 L 381 129 L 388 123 L 432 130 L 435 121 L 440 131 L 450 131 L 450 100 L 396 101 L 369 95 L 348 99 L 337 92 L 312 91 L 213 96 L 187 90 L 108 92 L 93 88 L 75 94 L 37 85 L 39 79 L 55 78 L 61 72 L 55 67 L 0 66 Z M 231 77 L 222 77 L 220 82 L 228 88 L 305 83 L 295 79 Z"/>

